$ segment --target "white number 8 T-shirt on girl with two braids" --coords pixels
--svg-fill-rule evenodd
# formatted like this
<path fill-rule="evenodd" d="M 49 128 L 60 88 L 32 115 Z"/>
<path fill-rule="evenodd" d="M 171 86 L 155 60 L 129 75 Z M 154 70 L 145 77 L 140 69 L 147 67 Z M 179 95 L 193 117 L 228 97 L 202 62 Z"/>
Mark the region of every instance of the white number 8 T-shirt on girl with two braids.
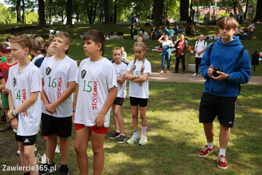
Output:
<path fill-rule="evenodd" d="M 145 59 L 144 63 L 144 71 L 141 72 L 141 67 L 143 65 L 143 61 L 136 61 L 134 65 L 134 70 L 132 70 L 134 60 L 130 61 L 128 64 L 127 70 L 132 71 L 133 75 L 139 74 L 143 75 L 144 73 L 149 73 L 151 75 L 151 64 L 150 62 Z M 149 86 L 148 86 L 148 80 L 145 82 L 137 83 L 134 81 L 129 81 L 129 92 L 130 97 L 138 97 L 142 99 L 148 99 L 149 97 Z"/>

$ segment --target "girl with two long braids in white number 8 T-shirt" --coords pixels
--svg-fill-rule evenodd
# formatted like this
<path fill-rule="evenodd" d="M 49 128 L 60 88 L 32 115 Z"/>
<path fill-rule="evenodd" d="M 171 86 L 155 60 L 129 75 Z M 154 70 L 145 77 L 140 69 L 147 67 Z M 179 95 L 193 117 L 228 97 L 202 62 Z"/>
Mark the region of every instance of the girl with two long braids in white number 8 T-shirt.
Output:
<path fill-rule="evenodd" d="M 125 79 L 129 81 L 129 97 L 132 109 L 133 136 L 127 143 L 137 143 L 138 137 L 138 105 L 140 110 L 142 134 L 139 145 L 147 143 L 146 106 L 149 97 L 148 76 L 151 75 L 151 64 L 146 60 L 146 45 L 143 42 L 134 45 L 135 59 L 128 64 Z"/>

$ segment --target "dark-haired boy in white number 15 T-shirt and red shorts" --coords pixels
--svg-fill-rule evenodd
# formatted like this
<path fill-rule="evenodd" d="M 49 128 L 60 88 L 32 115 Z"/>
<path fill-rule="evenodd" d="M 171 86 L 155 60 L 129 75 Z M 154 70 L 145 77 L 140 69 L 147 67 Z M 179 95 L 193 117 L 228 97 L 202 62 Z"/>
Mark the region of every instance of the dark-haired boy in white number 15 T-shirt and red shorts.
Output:
<path fill-rule="evenodd" d="M 75 125 L 75 152 L 80 174 L 88 174 L 86 148 L 92 136 L 94 174 L 104 166 L 103 143 L 108 132 L 111 106 L 117 96 L 117 79 L 113 64 L 100 55 L 105 37 L 98 30 L 83 36 L 84 51 L 90 58 L 79 65 L 77 91 L 72 122 Z"/>

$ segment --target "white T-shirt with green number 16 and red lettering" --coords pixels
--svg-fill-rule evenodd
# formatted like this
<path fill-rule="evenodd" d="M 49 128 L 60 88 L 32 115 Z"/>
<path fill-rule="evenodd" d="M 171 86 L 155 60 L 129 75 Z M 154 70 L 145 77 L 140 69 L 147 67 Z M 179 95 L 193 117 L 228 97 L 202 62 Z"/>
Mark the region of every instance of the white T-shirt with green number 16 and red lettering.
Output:
<path fill-rule="evenodd" d="M 44 79 L 44 91 L 50 104 L 55 102 L 68 88 L 68 82 L 75 81 L 78 74 L 77 63 L 65 56 L 61 61 L 55 61 L 55 56 L 43 60 L 40 67 L 41 78 Z M 55 117 L 73 115 L 73 94 L 57 106 L 54 114 L 49 114 L 42 102 L 42 112 Z"/>

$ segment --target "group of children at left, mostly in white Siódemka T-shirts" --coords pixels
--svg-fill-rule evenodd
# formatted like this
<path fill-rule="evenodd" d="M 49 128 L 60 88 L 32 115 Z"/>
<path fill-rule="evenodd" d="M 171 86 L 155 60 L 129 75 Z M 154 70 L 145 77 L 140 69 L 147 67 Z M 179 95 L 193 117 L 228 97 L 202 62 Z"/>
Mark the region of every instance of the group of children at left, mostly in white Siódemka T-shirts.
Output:
<path fill-rule="evenodd" d="M 127 94 L 126 79 L 131 82 L 129 96 L 133 120 L 133 136 L 127 142 L 139 142 L 139 145 L 147 143 L 146 106 L 151 65 L 145 59 L 146 45 L 143 42 L 135 43 L 135 60 L 131 61 L 128 67 L 124 63 L 127 59 L 124 47 L 112 50 L 113 64 L 101 56 L 105 45 L 101 32 L 90 30 L 83 36 L 83 41 L 84 52 L 89 58 L 81 61 L 79 69 L 76 62 L 66 55 L 70 45 L 70 36 L 66 32 L 58 32 L 45 46 L 41 38 L 31 40 L 25 36 L 13 37 L 10 47 L 7 43 L 0 44 L 0 53 L 2 57 L 6 57 L 6 61 L 0 64 L 0 89 L 7 121 L 7 125 L 0 130 L 13 129 L 22 166 L 35 167 L 35 171 L 24 170 L 24 174 L 46 174 L 55 171 L 57 136 L 61 149 L 59 172 L 68 174 L 67 159 L 72 123 L 76 130 L 74 147 L 80 173 L 88 172 L 86 148 L 89 137 L 92 136 L 94 174 L 101 174 L 104 162 L 103 142 L 108 132 L 111 108 L 116 131 L 108 138 L 119 137 L 117 143 L 124 143 L 127 138 L 121 115 L 121 106 Z M 46 54 L 43 53 L 44 49 Z M 30 53 L 33 56 L 29 59 Z M 8 79 L 8 75 L 11 78 Z M 72 108 L 76 83 L 78 87 Z M 140 139 L 138 105 L 142 120 Z M 37 150 L 34 145 L 40 121 L 42 135 L 47 138 L 48 161 L 41 165 L 47 167 L 43 169 L 38 169 L 34 161 L 34 151 Z"/>

